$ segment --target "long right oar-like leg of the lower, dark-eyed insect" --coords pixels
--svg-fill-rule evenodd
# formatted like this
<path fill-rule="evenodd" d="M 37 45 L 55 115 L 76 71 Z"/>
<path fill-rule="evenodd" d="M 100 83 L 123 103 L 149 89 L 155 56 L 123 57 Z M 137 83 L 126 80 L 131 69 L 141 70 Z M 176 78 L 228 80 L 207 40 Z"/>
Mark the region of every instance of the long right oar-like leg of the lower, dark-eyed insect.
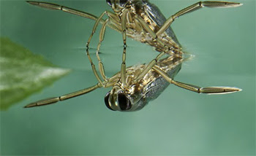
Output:
<path fill-rule="evenodd" d="M 158 74 L 160 74 L 164 79 L 167 80 L 167 82 L 170 82 L 173 85 L 176 85 L 178 87 L 182 87 L 186 90 L 191 90 L 196 93 L 207 93 L 207 94 L 225 94 L 225 93 L 234 93 L 241 91 L 241 89 L 237 87 L 198 87 L 195 85 L 189 85 L 183 82 L 178 82 L 170 78 L 165 71 L 162 71 L 157 66 L 153 67 L 154 71 L 157 71 Z"/>

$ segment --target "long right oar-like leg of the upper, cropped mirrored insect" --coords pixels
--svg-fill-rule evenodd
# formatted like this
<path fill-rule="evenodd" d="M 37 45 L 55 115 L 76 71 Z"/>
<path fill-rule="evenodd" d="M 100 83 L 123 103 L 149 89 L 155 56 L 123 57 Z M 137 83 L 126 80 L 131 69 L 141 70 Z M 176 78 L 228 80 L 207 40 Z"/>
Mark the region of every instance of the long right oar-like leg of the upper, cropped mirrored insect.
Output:
<path fill-rule="evenodd" d="M 176 14 L 170 16 L 162 25 L 162 27 L 159 29 L 159 31 L 157 31 L 157 36 L 165 32 L 165 30 L 169 28 L 170 24 L 173 23 L 173 21 L 176 18 L 180 17 L 181 15 L 187 14 L 189 12 L 193 12 L 202 7 L 238 7 L 241 5 L 242 5 L 241 3 L 227 2 L 227 1 L 199 1 L 196 4 L 192 4 L 191 6 L 186 7 L 185 9 L 181 9 L 181 11 L 176 12 Z"/>

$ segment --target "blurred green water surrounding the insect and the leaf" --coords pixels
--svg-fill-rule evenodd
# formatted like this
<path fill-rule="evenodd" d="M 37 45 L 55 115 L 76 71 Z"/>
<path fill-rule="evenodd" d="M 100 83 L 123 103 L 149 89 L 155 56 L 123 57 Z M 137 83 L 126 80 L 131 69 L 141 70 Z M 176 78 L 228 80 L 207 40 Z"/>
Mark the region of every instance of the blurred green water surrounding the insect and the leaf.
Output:
<path fill-rule="evenodd" d="M 0 112 L 0 155 L 255 155 L 255 1 L 241 0 L 244 5 L 237 8 L 203 8 L 172 24 L 184 50 L 195 55 L 183 64 L 178 81 L 243 91 L 200 95 L 170 85 L 144 109 L 131 113 L 105 107 L 109 88 L 23 109 L 31 101 L 97 83 L 84 49 L 94 21 L 25 1 L 0 2 L 1 36 L 72 69 L 50 87 Z M 97 16 L 111 9 L 103 0 L 51 2 Z M 197 1 L 151 2 L 168 17 Z M 97 47 L 97 41 L 98 33 L 91 47 Z M 157 55 L 146 44 L 132 39 L 127 44 L 128 65 Z M 120 70 L 121 52 L 121 34 L 107 28 L 101 57 L 108 77 Z"/>

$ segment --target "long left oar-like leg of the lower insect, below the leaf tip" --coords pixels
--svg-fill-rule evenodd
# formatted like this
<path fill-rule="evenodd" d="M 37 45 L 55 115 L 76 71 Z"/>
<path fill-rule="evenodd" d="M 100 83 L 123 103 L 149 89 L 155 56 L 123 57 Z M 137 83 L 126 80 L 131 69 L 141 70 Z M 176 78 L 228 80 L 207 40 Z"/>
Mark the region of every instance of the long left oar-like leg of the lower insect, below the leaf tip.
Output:
<path fill-rule="evenodd" d="M 102 87 L 102 85 L 97 84 L 97 85 L 94 85 L 92 87 L 89 87 L 89 88 L 86 88 L 86 89 L 83 89 L 83 90 L 78 90 L 78 91 L 75 91 L 73 93 L 69 93 L 69 94 L 66 94 L 66 95 L 61 95 L 61 96 L 55 97 L 55 98 L 45 98 L 43 100 L 36 101 L 36 102 L 31 103 L 31 104 L 28 104 L 28 105 L 24 106 L 24 108 L 29 108 L 29 107 L 34 107 L 34 106 L 43 106 L 43 105 L 47 105 L 47 104 L 54 104 L 54 103 L 59 102 L 59 101 L 64 101 L 64 100 L 67 100 L 69 98 L 75 98 L 76 96 L 89 93 L 93 90 L 96 90 L 99 87 Z"/>

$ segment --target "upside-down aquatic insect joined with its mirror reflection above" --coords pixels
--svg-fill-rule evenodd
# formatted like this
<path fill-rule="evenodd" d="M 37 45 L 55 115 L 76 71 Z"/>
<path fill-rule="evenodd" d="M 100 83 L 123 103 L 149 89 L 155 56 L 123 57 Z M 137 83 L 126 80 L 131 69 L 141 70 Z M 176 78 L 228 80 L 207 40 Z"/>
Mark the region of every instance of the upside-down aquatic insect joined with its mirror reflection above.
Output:
<path fill-rule="evenodd" d="M 89 40 L 86 44 L 86 53 L 98 83 L 92 87 L 74 93 L 61 95 L 56 98 L 47 98 L 28 104 L 25 106 L 26 108 L 64 101 L 78 95 L 89 93 L 99 87 L 112 87 L 112 90 L 105 95 L 105 104 L 109 109 L 121 112 L 142 109 L 148 104 L 148 101 L 157 98 L 170 84 L 177 85 L 178 87 L 196 93 L 222 94 L 234 93 L 241 90 L 236 87 L 197 87 L 195 85 L 189 85 L 174 80 L 173 77 L 178 74 L 178 71 L 181 69 L 181 63 L 186 58 L 184 57 L 181 44 L 179 44 L 176 35 L 170 28 L 170 24 L 173 23 L 177 17 L 202 7 L 238 7 L 241 5 L 240 3 L 227 1 L 200 1 L 185 9 L 181 9 L 181 11 L 176 12 L 176 14 L 166 19 L 160 10 L 148 0 L 106 1 L 108 5 L 112 7 L 114 12 L 105 11 L 99 17 L 58 4 L 27 1 L 29 4 L 39 7 L 58 9 L 91 20 L 96 20 L 91 36 L 89 36 Z M 107 15 L 106 20 L 103 20 L 104 15 Z M 99 43 L 97 46 L 97 60 L 99 63 L 98 73 L 89 54 L 89 44 L 99 23 L 102 23 L 102 27 L 99 32 Z M 101 43 L 104 40 L 107 26 L 120 32 L 124 41 L 121 71 L 110 78 L 105 77 L 104 66 L 99 58 L 99 50 Z M 154 49 L 159 52 L 159 55 L 148 64 L 126 67 L 127 36 L 138 40 L 139 42 L 151 45 L 151 47 L 154 47 Z M 167 56 L 162 58 L 164 55 Z"/>

